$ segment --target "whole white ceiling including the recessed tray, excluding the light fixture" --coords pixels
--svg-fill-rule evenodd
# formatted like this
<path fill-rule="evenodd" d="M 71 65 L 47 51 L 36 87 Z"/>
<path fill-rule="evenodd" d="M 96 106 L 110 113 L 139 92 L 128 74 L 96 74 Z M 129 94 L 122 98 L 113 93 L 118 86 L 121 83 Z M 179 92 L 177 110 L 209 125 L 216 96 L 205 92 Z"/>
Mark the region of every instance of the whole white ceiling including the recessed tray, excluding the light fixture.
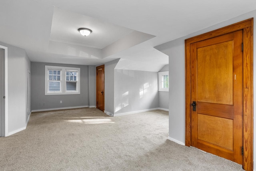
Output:
<path fill-rule="evenodd" d="M 0 42 L 32 62 L 159 71 L 168 56 L 154 46 L 256 9 L 256 0 L 0 0 Z M 92 34 L 77 31 L 85 27 Z M 60 30 L 60 31 L 59 31 Z"/>

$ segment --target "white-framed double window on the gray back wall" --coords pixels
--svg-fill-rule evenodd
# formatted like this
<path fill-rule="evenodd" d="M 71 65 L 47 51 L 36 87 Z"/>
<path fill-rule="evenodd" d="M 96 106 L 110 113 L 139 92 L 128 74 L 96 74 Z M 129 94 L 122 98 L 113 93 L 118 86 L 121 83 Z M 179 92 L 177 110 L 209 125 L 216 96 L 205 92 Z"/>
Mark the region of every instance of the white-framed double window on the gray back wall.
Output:
<path fill-rule="evenodd" d="M 45 66 L 45 95 L 80 94 L 80 68 Z"/>

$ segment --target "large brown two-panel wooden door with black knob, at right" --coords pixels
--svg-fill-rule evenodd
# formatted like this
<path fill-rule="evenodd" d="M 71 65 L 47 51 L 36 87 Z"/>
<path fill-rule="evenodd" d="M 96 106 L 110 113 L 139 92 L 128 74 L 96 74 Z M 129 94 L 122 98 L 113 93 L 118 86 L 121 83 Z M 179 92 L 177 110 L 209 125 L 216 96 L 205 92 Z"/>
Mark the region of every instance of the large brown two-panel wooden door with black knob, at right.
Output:
<path fill-rule="evenodd" d="M 240 30 L 190 47 L 191 104 L 195 104 L 191 145 L 239 164 L 243 163 L 242 36 Z"/>

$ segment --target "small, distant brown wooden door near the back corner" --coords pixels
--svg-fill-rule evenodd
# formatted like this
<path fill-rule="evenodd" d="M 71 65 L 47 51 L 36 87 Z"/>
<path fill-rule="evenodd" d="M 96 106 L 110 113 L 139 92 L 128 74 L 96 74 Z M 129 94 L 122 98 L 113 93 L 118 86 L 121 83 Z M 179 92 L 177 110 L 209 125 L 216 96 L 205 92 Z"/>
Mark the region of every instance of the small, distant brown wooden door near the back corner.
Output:
<path fill-rule="evenodd" d="M 96 107 L 104 112 L 104 65 L 96 67 Z"/>

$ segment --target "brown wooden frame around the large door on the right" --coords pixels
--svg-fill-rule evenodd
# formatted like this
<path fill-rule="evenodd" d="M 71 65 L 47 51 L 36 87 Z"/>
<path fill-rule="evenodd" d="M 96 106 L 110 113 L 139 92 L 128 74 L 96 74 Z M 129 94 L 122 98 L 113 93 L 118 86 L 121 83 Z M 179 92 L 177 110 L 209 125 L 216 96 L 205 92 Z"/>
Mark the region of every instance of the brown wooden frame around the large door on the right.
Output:
<path fill-rule="evenodd" d="M 253 18 L 185 40 L 185 145 L 191 145 L 190 44 L 243 30 L 243 168 L 253 170 Z"/>

